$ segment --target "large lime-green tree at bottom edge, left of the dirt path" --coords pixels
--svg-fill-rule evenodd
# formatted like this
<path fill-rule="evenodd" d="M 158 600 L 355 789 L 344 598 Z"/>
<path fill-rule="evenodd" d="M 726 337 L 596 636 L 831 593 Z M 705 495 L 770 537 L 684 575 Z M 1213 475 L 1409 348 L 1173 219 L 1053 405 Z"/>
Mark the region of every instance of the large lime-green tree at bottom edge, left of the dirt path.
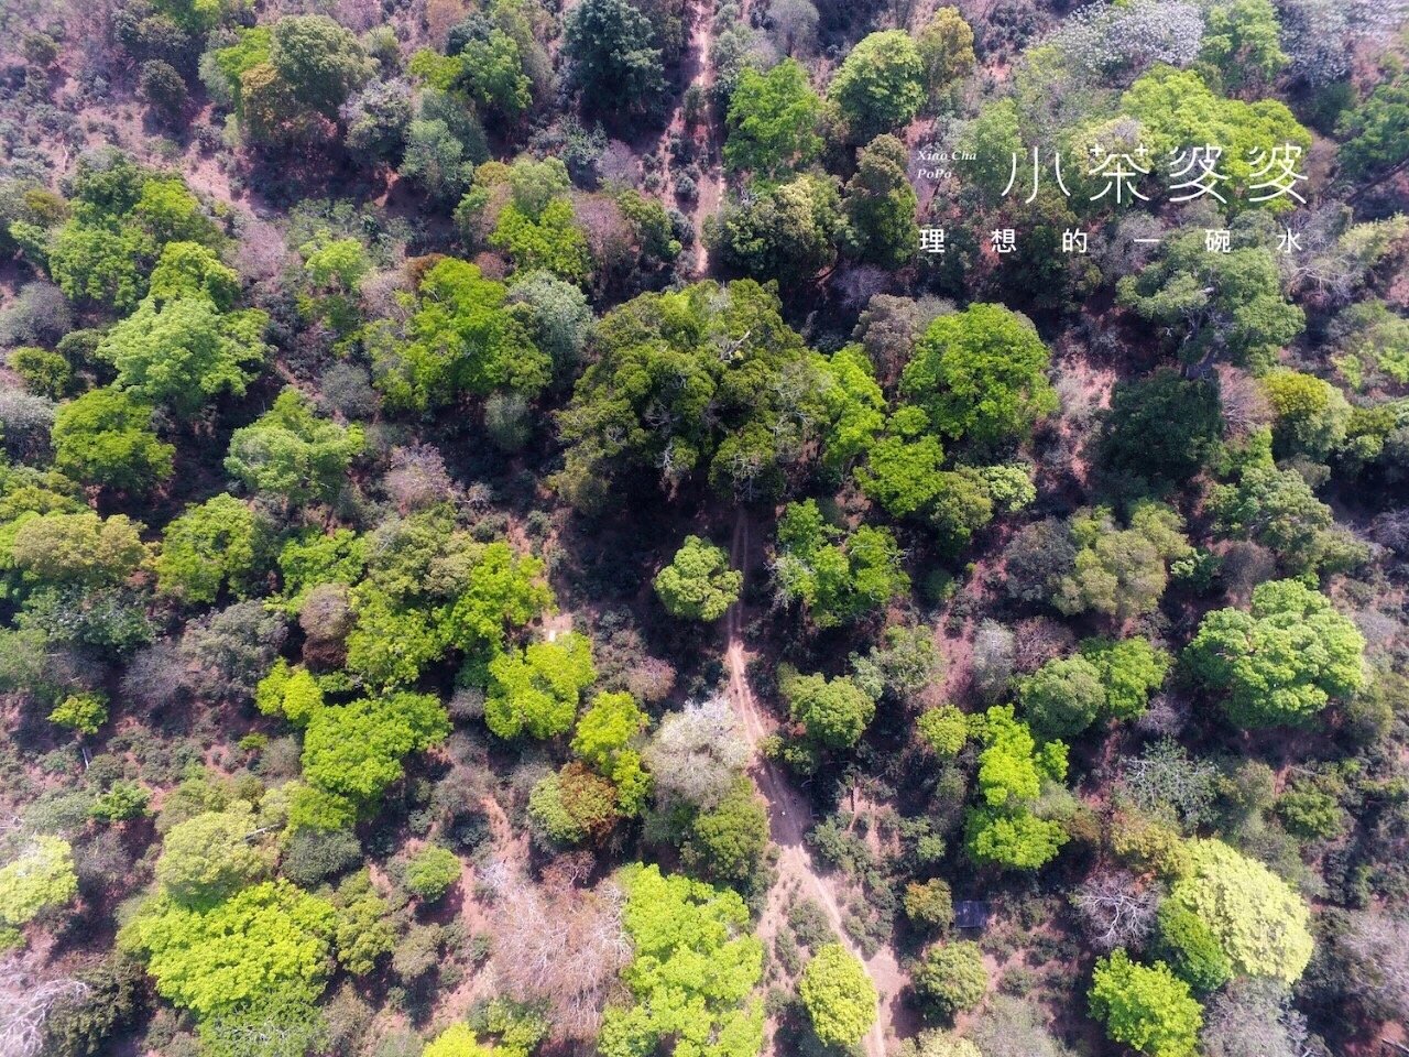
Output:
<path fill-rule="evenodd" d="M 764 1043 L 764 1009 L 752 996 L 764 946 L 748 933 L 744 901 L 655 865 L 627 867 L 619 884 L 633 946 L 621 979 L 633 1003 L 607 1008 L 597 1040 L 604 1057 L 645 1057 L 665 1039 L 679 1057 L 754 1057 Z"/>

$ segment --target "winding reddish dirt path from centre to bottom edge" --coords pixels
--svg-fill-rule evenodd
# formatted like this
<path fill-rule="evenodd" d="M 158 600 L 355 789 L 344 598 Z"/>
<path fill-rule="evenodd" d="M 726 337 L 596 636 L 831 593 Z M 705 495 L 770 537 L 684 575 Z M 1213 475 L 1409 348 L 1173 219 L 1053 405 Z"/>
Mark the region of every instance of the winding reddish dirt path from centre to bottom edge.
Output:
<path fill-rule="evenodd" d="M 748 514 L 743 510 L 740 510 L 738 520 L 734 523 L 730 565 L 743 571 L 745 578 L 748 576 L 751 565 Z M 816 899 L 826 913 L 833 932 L 837 934 L 837 940 L 865 964 L 871 981 L 876 985 L 881 996 L 879 1010 L 875 1023 L 862 1040 L 862 1046 L 867 1057 L 885 1057 L 886 1036 L 893 1034 L 893 1030 L 890 1030 L 893 1010 L 905 987 L 905 974 L 900 971 L 895 953 L 889 947 L 882 947 L 871 958 L 865 958 L 843 927 L 836 884 L 830 877 L 817 871 L 817 867 L 812 861 L 812 853 L 807 851 L 807 846 L 803 843 L 803 837 L 812 823 L 812 810 L 807 801 L 792 788 L 788 777 L 778 765 L 759 751 L 761 743 L 772 731 L 772 722 L 758 706 L 752 691 L 748 688 L 748 653 L 744 648 L 743 600 L 730 606 L 724 624 L 728 634 L 724 650 L 724 665 L 728 669 L 728 699 L 743 722 L 748 746 L 754 750 L 751 774 L 754 784 L 768 802 L 768 829 L 779 850 L 778 879 L 768 894 L 768 906 L 764 910 L 759 933 L 766 934 L 775 930 L 776 923 L 786 913 L 783 901 L 788 891 L 796 891 Z M 768 923 L 769 927 L 765 929 L 764 923 Z"/>

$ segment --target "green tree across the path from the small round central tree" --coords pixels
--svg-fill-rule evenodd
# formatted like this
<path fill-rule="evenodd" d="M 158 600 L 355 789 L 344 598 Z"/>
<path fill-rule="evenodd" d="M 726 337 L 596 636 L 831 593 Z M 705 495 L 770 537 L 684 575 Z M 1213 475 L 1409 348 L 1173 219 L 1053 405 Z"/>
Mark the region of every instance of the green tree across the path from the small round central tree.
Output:
<path fill-rule="evenodd" d="M 774 579 L 817 627 L 857 620 L 910 586 L 888 528 L 845 533 L 827 524 L 812 499 L 789 503 L 778 521 Z"/>

